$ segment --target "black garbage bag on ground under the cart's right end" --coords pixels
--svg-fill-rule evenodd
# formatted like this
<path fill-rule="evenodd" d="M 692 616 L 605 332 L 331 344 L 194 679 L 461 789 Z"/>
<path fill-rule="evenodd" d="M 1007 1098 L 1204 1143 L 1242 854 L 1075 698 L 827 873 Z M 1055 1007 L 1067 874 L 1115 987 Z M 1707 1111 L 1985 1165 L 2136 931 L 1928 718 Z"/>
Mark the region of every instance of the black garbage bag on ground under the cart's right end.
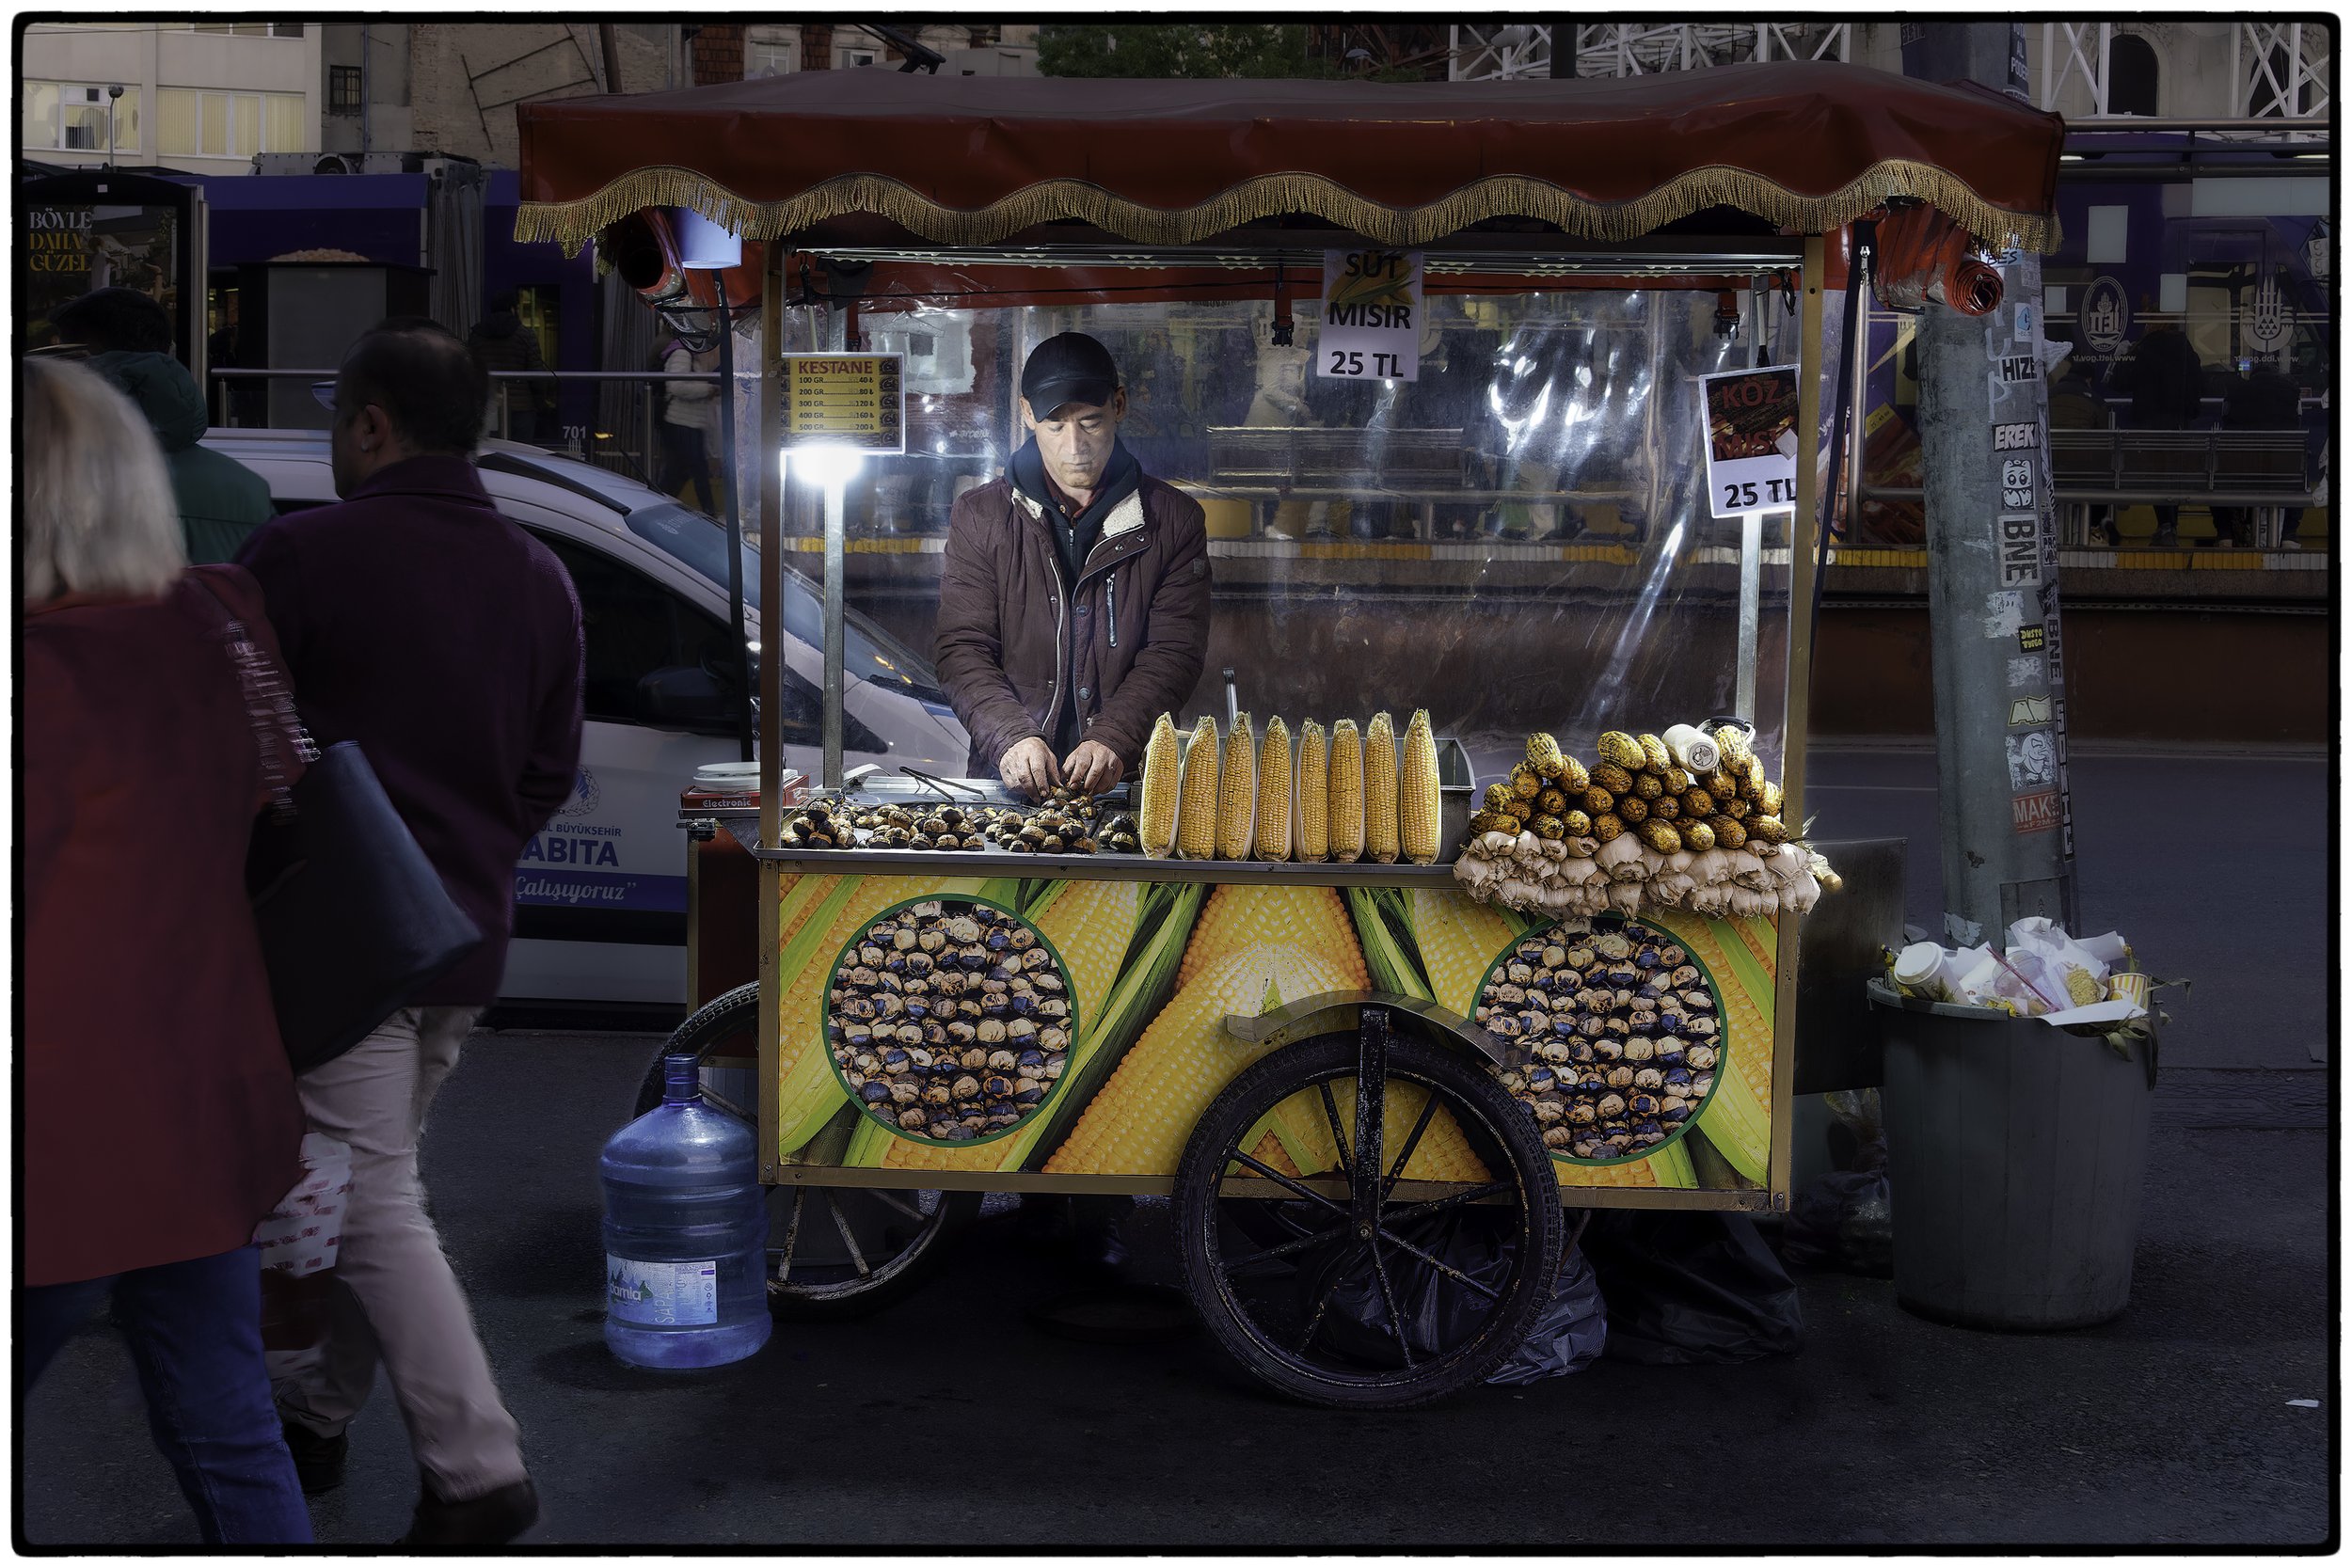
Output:
<path fill-rule="evenodd" d="M 1804 1342 L 1797 1284 L 1738 1213 L 1597 1211 L 1578 1244 L 1616 1361 L 1757 1361 Z"/>

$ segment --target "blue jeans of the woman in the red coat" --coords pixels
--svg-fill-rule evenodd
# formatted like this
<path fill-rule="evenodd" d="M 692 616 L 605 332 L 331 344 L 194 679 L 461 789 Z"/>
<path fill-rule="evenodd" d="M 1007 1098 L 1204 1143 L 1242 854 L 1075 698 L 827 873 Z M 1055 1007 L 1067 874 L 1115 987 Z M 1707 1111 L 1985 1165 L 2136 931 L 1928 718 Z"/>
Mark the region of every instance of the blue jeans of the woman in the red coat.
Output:
<path fill-rule="evenodd" d="M 108 1293 L 139 1368 L 155 1448 L 172 1462 L 205 1542 L 308 1544 L 310 1514 L 261 1363 L 261 1253 L 240 1246 L 19 1291 L 19 1401 Z"/>

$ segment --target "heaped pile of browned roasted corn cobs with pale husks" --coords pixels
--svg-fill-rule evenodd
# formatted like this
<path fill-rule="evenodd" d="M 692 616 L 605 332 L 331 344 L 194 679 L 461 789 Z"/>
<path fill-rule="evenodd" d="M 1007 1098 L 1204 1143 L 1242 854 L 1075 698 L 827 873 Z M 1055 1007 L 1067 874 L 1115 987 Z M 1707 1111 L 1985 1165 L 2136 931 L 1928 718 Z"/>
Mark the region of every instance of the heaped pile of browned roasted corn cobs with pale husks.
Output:
<path fill-rule="evenodd" d="M 1486 788 L 1470 818 L 1456 879 L 1472 898 L 1555 919 L 1632 914 L 1644 903 L 1700 914 L 1811 910 L 1828 863 L 1790 842 L 1780 785 L 1745 731 L 1724 724 L 1712 743 L 1717 766 L 1693 771 L 1693 748 L 1675 752 L 1658 736 L 1609 731 L 1590 766 L 1552 736 L 1529 736 L 1526 759 Z"/>

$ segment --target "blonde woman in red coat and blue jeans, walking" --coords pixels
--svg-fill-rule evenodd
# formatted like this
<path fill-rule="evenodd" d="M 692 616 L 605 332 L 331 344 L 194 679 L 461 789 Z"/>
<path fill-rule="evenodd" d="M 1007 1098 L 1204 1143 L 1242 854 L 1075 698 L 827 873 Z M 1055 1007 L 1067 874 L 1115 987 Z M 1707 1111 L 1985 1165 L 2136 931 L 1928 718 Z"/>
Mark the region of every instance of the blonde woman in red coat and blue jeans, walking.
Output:
<path fill-rule="evenodd" d="M 19 409 L 16 1389 L 111 1295 L 205 1540 L 308 1542 L 252 1246 L 303 1128 L 245 896 L 268 788 L 221 599 L 261 644 L 268 616 L 240 569 L 186 569 L 129 400 L 28 360 Z"/>

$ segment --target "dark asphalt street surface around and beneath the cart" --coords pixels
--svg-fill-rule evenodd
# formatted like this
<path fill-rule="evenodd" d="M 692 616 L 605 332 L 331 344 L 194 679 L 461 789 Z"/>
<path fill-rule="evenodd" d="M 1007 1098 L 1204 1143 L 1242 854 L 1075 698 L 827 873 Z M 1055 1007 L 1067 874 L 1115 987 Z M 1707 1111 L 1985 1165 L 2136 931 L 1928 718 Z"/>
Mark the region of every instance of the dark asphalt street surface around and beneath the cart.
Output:
<path fill-rule="evenodd" d="M 1818 837 L 1912 837 L 1938 924 L 1933 759 L 1816 752 Z M 1025 1312 L 1068 1262 L 1009 1215 L 858 1324 L 656 1375 L 600 1338 L 595 1152 L 649 1034 L 480 1034 L 426 1178 L 546 1500 L 536 1544 L 609 1547 L 2314 1547 L 2333 1530 L 2324 757 L 2074 762 L 2086 926 L 2173 1004 L 2131 1309 L 2103 1328 L 1938 1328 L 1893 1286 L 1799 1274 L 1806 1340 L 1748 1366 L 1621 1361 L 1404 1415 L 1258 1392 L 1204 1338 L 1105 1347 Z M 2185 823 L 2232 809 L 2227 832 Z M 1900 1194 L 1898 1194 L 1900 1204 Z M 1164 1211 L 1134 1225 L 1169 1276 Z M 2317 1401 L 2305 1408 L 2291 1401 Z M 92 1324 L 33 1389 L 31 1544 L 195 1542 L 120 1342 Z M 353 1427 L 322 1542 L 393 1540 L 416 1474 L 390 1392 Z"/>

